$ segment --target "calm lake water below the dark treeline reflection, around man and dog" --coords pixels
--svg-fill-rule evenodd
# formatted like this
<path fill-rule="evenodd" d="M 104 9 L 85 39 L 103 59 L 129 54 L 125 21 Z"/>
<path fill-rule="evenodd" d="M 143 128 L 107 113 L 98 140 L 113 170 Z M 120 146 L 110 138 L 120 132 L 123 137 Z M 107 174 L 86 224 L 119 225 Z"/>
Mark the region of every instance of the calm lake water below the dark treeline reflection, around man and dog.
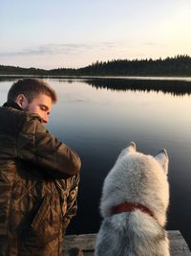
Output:
<path fill-rule="evenodd" d="M 12 81 L 0 81 L 0 104 Z M 78 214 L 68 233 L 97 232 L 104 177 L 121 149 L 169 154 L 170 207 L 167 229 L 191 244 L 191 82 L 46 79 L 58 92 L 48 124 L 82 159 Z M 111 86 L 110 86 L 111 85 Z M 109 88 L 111 87 L 111 88 Z"/>

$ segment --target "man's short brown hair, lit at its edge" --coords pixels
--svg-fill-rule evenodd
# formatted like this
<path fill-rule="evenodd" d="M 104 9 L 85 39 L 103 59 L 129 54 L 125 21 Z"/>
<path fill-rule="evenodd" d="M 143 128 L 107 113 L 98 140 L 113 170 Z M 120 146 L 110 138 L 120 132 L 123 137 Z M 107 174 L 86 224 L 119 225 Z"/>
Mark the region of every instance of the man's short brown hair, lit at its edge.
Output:
<path fill-rule="evenodd" d="M 23 79 L 14 82 L 8 92 L 8 101 L 15 101 L 19 94 L 23 94 L 29 103 L 39 94 L 45 94 L 52 99 L 53 104 L 57 101 L 57 95 L 53 88 L 40 79 Z"/>

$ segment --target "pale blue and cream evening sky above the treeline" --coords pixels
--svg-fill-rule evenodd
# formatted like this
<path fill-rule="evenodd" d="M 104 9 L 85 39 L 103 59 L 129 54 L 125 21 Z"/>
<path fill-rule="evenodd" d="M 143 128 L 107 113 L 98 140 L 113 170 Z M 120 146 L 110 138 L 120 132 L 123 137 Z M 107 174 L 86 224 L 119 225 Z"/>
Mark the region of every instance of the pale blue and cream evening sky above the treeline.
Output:
<path fill-rule="evenodd" d="M 1 0 L 0 65 L 191 56 L 191 0 Z"/>

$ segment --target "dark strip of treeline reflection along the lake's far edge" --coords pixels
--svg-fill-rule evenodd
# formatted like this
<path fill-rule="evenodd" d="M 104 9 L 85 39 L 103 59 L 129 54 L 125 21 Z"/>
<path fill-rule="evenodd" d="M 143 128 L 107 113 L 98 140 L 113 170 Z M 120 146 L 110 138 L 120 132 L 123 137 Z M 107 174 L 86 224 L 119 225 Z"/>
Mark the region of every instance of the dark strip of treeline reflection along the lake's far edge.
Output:
<path fill-rule="evenodd" d="M 0 76 L 0 81 L 15 81 L 31 76 Z M 190 78 L 86 78 L 86 77 L 45 77 L 33 76 L 34 78 L 49 79 L 50 81 L 68 82 L 74 81 L 86 82 L 96 88 L 107 88 L 112 90 L 133 90 L 133 91 L 161 91 L 171 93 L 172 95 L 190 95 L 191 79 Z"/>

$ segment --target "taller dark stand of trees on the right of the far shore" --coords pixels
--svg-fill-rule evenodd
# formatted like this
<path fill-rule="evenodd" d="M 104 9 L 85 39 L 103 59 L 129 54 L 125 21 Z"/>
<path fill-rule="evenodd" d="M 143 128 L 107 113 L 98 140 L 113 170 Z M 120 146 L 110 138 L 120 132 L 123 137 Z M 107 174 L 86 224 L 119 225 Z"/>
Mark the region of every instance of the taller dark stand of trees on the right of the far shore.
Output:
<path fill-rule="evenodd" d="M 177 56 L 164 59 L 96 61 L 96 63 L 80 70 L 89 75 L 191 76 L 191 58 L 189 56 Z"/>

